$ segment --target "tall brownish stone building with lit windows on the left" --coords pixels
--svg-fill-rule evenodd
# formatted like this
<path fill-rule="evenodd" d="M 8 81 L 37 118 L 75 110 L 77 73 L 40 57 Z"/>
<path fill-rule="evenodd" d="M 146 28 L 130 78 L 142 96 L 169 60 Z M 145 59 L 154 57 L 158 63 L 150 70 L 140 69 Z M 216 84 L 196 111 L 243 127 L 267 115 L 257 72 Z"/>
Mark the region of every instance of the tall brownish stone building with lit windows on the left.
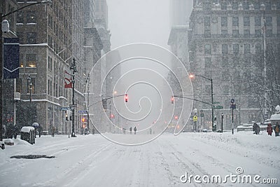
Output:
<path fill-rule="evenodd" d="M 19 6 L 28 3 L 25 0 L 18 1 Z M 52 1 L 51 6 L 31 6 L 18 12 L 20 78 L 16 90 L 21 93 L 17 105 L 18 124 L 31 125 L 37 122 L 44 131 L 50 132 L 53 126 L 57 132 L 71 131 L 71 122 L 66 120 L 65 111 L 59 109 L 72 104 L 72 89 L 64 86 L 71 83 L 71 64 L 75 58 L 77 72 L 74 103 L 77 107 L 72 120 L 75 120 L 75 129 L 80 131 L 82 116 L 78 110 L 86 107 L 85 67 L 88 65 L 85 62 L 84 37 L 93 34 L 84 28 L 89 25 L 92 28 L 94 22 L 90 17 L 86 19 L 88 25 L 84 22 L 85 9 L 89 4 L 88 1 Z M 93 7 L 87 9 L 89 15 L 93 15 L 92 11 Z M 92 48 L 99 50 L 99 47 Z"/>

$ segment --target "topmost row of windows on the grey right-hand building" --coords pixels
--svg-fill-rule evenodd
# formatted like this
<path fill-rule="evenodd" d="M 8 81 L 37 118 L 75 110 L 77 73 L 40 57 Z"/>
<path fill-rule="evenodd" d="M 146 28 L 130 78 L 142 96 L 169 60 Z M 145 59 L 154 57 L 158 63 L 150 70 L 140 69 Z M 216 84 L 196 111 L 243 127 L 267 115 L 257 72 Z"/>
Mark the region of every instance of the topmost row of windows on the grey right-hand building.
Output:
<path fill-rule="evenodd" d="M 203 9 L 204 11 L 211 11 L 212 6 L 211 5 L 215 5 L 218 4 L 217 0 L 212 0 L 212 2 L 204 2 L 203 4 Z M 242 3 L 238 3 L 238 2 L 232 2 L 232 4 L 228 3 L 227 1 L 223 1 L 221 2 L 221 10 L 228 10 L 229 7 L 232 7 L 232 10 L 260 10 L 261 8 L 265 8 L 265 10 L 272 10 L 272 8 L 276 8 L 277 10 L 280 10 L 280 2 L 279 1 L 275 1 L 274 4 L 272 4 L 271 1 L 262 1 L 262 3 L 260 3 L 260 1 L 254 1 L 252 3 L 249 4 L 248 1 L 243 1 Z"/>

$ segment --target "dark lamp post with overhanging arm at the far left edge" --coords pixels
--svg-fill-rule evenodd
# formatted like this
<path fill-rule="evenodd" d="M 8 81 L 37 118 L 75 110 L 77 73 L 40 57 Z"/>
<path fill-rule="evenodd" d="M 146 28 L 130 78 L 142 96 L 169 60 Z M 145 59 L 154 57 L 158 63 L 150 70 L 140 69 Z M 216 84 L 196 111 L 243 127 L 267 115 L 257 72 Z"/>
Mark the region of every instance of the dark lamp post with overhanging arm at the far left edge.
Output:
<path fill-rule="evenodd" d="M 36 4 L 44 4 L 44 5 L 49 5 L 52 4 L 51 0 L 46 0 L 46 1 L 39 1 L 36 3 L 28 4 L 27 6 L 22 6 L 15 11 L 11 11 L 10 13 L 2 14 L 0 12 L 0 122 L 3 124 L 3 100 L 2 100 L 2 90 L 3 90 L 3 32 L 2 32 L 2 22 L 3 18 L 6 18 L 8 15 L 11 15 L 13 13 L 16 13 L 24 8 L 27 8 L 29 6 L 34 6 Z M 1 6 L 3 5 L 3 1 L 1 2 Z M 3 6 L 2 6 L 3 7 Z M 1 10 L 0 10 L 1 11 Z M 6 32 L 6 31 L 5 31 Z M 7 30 L 8 32 L 8 30 Z M 3 137 L 2 137 L 2 127 L 0 127 L 0 142 L 1 142 L 1 148 L 4 149 L 4 144 L 3 144 Z"/>

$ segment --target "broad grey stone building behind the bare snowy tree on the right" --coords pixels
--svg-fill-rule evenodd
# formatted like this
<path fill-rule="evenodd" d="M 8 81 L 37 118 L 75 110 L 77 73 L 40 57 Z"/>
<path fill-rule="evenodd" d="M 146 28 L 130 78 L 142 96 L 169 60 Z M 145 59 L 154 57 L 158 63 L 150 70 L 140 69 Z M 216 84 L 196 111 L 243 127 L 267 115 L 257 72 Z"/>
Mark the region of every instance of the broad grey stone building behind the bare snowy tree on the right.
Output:
<path fill-rule="evenodd" d="M 223 113 L 231 129 L 231 99 L 235 125 L 263 121 L 265 109 L 279 104 L 280 1 L 194 0 L 188 48 L 190 71 L 213 79 L 214 103 L 223 106 L 214 112 L 218 125 Z M 193 81 L 195 99 L 211 103 L 211 82 L 201 76 Z M 211 106 L 195 108 L 211 127 Z"/>

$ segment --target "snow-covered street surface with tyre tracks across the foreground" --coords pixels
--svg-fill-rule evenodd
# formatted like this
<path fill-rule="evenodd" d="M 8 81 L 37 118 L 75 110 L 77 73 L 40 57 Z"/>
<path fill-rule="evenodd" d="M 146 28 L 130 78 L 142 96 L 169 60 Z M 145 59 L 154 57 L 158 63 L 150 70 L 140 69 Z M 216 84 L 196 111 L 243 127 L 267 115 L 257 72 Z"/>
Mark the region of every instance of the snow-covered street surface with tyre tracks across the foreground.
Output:
<path fill-rule="evenodd" d="M 30 154 L 55 158 L 10 158 Z M 253 181 L 247 183 L 243 176 L 249 175 Z M 0 186 L 280 186 L 280 137 L 162 134 L 142 146 L 120 146 L 100 134 L 43 136 L 34 145 L 16 139 L 0 150 Z"/>

